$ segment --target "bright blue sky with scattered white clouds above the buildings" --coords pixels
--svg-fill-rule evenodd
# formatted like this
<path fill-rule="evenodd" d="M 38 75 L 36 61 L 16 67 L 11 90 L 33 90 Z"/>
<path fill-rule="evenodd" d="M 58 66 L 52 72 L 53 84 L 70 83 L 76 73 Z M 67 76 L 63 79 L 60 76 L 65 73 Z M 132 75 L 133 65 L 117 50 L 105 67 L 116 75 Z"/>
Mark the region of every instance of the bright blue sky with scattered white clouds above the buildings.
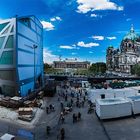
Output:
<path fill-rule="evenodd" d="M 45 63 L 66 58 L 105 62 L 133 24 L 140 34 L 140 0 L 0 0 L 0 20 L 35 15 L 43 24 Z"/>

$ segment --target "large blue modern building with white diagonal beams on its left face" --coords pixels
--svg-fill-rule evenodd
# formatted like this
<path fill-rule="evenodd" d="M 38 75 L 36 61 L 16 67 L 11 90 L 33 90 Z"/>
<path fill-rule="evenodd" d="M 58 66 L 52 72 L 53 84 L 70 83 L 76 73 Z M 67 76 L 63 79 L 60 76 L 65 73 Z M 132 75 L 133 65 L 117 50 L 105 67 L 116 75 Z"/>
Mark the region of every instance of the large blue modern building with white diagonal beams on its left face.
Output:
<path fill-rule="evenodd" d="M 0 21 L 0 94 L 27 96 L 43 87 L 42 35 L 35 16 Z"/>

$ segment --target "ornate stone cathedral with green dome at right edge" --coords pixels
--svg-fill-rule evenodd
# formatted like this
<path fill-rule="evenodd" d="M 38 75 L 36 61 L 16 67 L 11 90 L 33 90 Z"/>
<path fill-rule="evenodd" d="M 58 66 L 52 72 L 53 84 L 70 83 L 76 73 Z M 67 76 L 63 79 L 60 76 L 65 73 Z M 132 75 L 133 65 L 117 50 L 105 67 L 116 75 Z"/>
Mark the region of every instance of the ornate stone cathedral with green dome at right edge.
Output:
<path fill-rule="evenodd" d="M 120 48 L 113 46 L 107 48 L 106 64 L 108 72 L 131 74 L 132 67 L 140 60 L 140 36 L 134 31 L 133 26 L 130 32 L 124 36 Z"/>

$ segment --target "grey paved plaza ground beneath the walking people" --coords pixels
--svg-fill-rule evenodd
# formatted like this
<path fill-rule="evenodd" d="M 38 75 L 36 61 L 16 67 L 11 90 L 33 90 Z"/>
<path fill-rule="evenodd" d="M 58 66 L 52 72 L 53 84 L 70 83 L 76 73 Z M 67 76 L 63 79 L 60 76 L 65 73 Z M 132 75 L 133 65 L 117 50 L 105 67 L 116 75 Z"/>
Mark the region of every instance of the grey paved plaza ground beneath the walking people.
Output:
<path fill-rule="evenodd" d="M 58 101 L 59 97 L 59 101 Z M 73 110 L 65 115 L 65 121 L 60 121 L 61 106 L 70 101 L 71 96 L 65 98 L 55 94 L 54 97 L 45 97 L 41 117 L 32 127 L 25 124 L 6 122 L 0 120 L 0 135 L 8 132 L 17 135 L 19 129 L 31 132 L 34 140 L 60 140 L 60 129 L 65 129 L 65 140 L 139 140 L 140 139 L 140 115 L 130 116 L 114 120 L 101 121 L 95 111 L 88 114 L 89 103 L 85 102 L 84 107 L 76 107 L 76 97 L 73 98 Z M 83 96 L 79 100 L 82 100 Z M 46 113 L 46 106 L 53 104 L 55 111 Z M 81 113 L 81 120 L 73 123 L 73 113 Z M 46 134 L 46 126 L 51 127 L 49 135 Z M 29 140 L 22 137 L 19 140 Z"/>

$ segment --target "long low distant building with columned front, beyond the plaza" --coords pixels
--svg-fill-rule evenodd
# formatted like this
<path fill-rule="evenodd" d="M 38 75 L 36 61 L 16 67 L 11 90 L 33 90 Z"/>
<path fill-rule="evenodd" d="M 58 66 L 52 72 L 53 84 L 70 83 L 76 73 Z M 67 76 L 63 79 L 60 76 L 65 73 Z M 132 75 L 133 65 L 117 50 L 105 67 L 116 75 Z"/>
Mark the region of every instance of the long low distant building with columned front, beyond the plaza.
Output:
<path fill-rule="evenodd" d="M 89 61 L 78 61 L 77 59 L 65 59 L 64 61 L 54 61 L 56 69 L 88 69 Z"/>

